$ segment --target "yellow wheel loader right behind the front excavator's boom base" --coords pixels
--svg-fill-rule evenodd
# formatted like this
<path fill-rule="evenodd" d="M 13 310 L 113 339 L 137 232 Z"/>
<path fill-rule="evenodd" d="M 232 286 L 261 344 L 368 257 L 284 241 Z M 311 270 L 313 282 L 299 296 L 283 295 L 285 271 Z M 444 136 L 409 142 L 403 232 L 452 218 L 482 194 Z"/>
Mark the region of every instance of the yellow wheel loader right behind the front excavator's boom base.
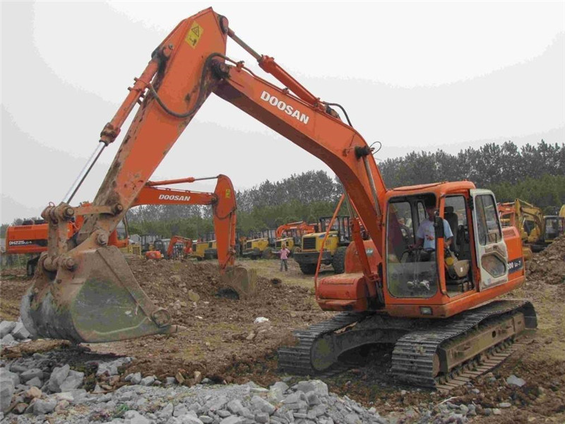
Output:
<path fill-rule="evenodd" d="M 345 251 L 351 242 L 349 216 L 337 216 L 331 231 L 326 239 L 326 245 L 322 246 L 323 238 L 331 217 L 320 218 L 320 231 L 302 236 L 302 251 L 295 252 L 293 257 L 300 266 L 300 271 L 305 274 L 316 272 L 318 257 L 323 250 L 321 263 L 333 266 L 335 273 L 345 271 Z"/>

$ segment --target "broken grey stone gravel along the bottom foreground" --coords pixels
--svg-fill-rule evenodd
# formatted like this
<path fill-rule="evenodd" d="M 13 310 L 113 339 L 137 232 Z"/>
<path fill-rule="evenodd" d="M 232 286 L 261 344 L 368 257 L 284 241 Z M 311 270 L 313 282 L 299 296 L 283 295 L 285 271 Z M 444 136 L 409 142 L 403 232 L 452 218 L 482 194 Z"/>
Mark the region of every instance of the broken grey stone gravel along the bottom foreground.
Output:
<path fill-rule="evenodd" d="M 12 336 L 9 331 L 22 334 L 17 322 L 0 324 L 0 329 L 8 331 L 2 340 Z M 87 358 L 83 362 L 69 360 L 73 358 L 69 351 L 1 361 L 0 419 L 22 424 L 46 420 L 52 424 L 444 424 L 465 423 L 477 414 L 496 415 L 511 406 L 503 402 L 483 409 L 447 401 L 425 411 L 408 408 L 381 416 L 375 408 L 331 393 L 321 380 L 289 387 L 292 380 L 285 377 L 260 387 L 254 382 L 214 384 L 198 375 L 195 380 L 201 383 L 187 387 L 177 384 L 175 377 L 167 377 L 162 384 L 154 375 L 141 372 L 121 375 L 134 358 L 88 360 L 84 352 L 80 352 Z M 520 383 L 518 377 L 509 379 L 508 384 Z"/>

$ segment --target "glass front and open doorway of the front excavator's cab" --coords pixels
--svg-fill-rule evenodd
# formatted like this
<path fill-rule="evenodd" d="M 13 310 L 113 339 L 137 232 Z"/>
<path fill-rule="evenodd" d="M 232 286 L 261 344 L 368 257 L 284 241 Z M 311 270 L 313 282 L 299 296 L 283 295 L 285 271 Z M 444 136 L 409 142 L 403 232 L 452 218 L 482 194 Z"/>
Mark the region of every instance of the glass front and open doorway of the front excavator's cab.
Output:
<path fill-rule="evenodd" d="M 432 194 L 396 196 L 388 203 L 386 269 L 388 290 L 397 298 L 431 298 L 442 279 L 452 295 L 474 287 L 468 201 L 446 196 L 443 213 L 436 204 Z"/>

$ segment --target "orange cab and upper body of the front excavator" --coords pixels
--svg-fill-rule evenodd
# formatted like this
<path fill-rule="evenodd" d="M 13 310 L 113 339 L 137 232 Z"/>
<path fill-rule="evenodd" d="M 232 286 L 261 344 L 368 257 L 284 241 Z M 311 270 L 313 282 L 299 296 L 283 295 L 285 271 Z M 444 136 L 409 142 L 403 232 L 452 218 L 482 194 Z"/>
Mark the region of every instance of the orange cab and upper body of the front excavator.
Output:
<path fill-rule="evenodd" d="M 351 264 L 360 255 L 350 248 L 345 274 L 317 287 L 323 310 L 449 317 L 523 283 L 520 235 L 501 227 L 489 190 L 471 182 L 398 187 L 386 193 L 384 206 L 382 261 L 373 240 L 364 241 L 370 271 L 382 275 L 381 293 L 359 279 Z"/>

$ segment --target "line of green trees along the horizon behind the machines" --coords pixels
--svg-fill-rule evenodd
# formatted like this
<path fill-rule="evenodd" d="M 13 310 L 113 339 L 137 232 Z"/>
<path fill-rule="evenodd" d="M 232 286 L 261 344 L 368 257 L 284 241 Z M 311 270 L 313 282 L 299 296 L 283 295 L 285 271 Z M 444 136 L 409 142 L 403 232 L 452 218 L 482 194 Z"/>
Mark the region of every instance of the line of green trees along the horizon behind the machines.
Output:
<path fill-rule="evenodd" d="M 412 152 L 379 162 L 387 187 L 468 179 L 477 187 L 491 189 L 498 201 L 529 201 L 546 213 L 565 204 L 565 143 L 540 141 L 518 148 L 507 141 L 467 148 L 457 154 Z M 308 171 L 281 181 L 266 180 L 236 193 L 237 229 L 251 230 L 330 216 L 343 192 L 340 182 L 324 171 Z M 146 205 L 127 213 L 130 232 L 183 235 L 196 238 L 213 231 L 210 206 Z M 347 214 L 343 207 L 340 213 Z M 5 225 L 2 225 L 4 236 Z"/>

